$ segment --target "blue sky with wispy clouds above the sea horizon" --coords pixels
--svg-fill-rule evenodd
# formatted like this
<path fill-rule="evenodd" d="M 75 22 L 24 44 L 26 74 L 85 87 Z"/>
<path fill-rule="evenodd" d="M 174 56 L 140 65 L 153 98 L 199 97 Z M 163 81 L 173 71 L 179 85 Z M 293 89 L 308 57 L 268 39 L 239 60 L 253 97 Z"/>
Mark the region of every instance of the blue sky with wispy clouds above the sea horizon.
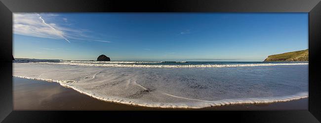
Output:
<path fill-rule="evenodd" d="M 308 48 L 308 13 L 14 13 L 15 58 L 263 61 Z"/>

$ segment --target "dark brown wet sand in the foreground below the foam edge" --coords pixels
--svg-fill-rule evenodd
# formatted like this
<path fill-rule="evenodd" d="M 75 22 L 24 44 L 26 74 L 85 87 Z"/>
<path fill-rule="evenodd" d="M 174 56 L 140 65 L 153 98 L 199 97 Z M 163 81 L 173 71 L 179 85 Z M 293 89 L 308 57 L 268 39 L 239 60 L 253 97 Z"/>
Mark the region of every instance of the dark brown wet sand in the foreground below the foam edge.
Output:
<path fill-rule="evenodd" d="M 150 108 L 98 100 L 58 83 L 13 77 L 13 110 L 308 110 L 308 98 L 201 109 Z"/>

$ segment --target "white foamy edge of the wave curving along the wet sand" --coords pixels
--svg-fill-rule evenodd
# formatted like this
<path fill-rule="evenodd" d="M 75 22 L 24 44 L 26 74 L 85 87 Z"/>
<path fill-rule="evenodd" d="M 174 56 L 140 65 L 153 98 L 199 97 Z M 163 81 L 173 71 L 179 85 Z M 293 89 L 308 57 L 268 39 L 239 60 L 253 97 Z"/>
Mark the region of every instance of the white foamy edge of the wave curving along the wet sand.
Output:
<path fill-rule="evenodd" d="M 271 103 L 271 102 L 283 102 L 283 101 L 290 101 L 295 99 L 301 99 L 308 97 L 307 92 L 299 92 L 294 95 L 289 96 L 279 96 L 279 97 L 262 97 L 262 98 L 239 98 L 239 99 L 222 99 L 222 100 L 215 100 L 215 101 L 208 101 L 208 100 L 200 100 L 200 99 L 191 99 L 181 96 L 175 96 L 168 93 L 162 93 L 164 95 L 169 95 L 172 97 L 183 98 L 188 100 L 195 100 L 197 102 L 186 102 L 186 103 L 161 103 L 161 102 L 145 102 L 136 99 L 128 99 L 122 97 L 113 97 L 107 95 L 99 95 L 90 91 L 82 90 L 80 88 L 68 85 L 67 83 L 74 83 L 77 81 L 68 81 L 68 80 L 52 80 L 52 79 L 40 79 L 40 78 L 30 78 L 30 77 L 23 77 L 23 76 L 14 76 L 26 79 L 34 79 L 34 80 L 41 80 L 47 82 L 56 82 L 59 83 L 61 86 L 72 88 L 80 93 L 89 95 L 91 97 L 110 101 L 110 102 L 118 102 L 123 104 L 131 104 L 131 105 L 139 105 L 139 106 L 146 106 L 146 107 L 160 107 L 160 108 L 205 108 L 205 107 L 212 107 L 212 106 L 222 106 L 222 105 L 230 105 L 230 104 L 253 104 L 253 103 Z M 144 88 L 144 87 L 142 87 Z M 144 88 L 145 89 L 145 88 Z"/>

